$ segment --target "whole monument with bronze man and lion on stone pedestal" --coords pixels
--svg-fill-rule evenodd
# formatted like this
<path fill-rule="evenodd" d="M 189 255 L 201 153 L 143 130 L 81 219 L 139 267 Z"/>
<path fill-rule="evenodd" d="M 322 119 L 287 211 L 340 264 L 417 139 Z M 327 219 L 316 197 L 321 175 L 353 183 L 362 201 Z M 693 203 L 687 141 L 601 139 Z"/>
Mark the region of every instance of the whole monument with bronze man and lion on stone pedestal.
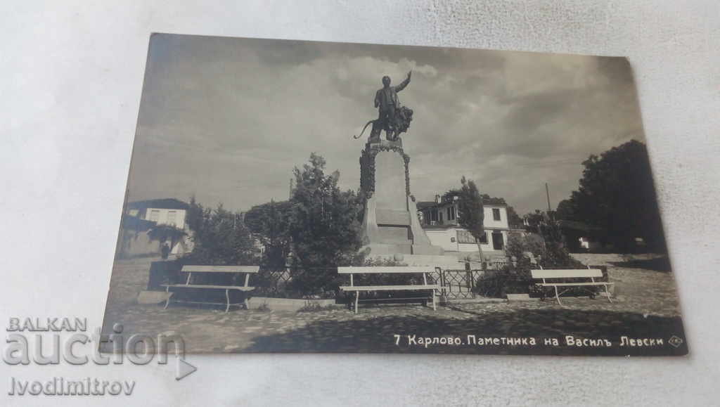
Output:
<path fill-rule="evenodd" d="M 367 122 L 372 130 L 360 156 L 360 188 L 365 195 L 361 250 L 369 256 L 395 254 L 441 255 L 420 226 L 415 198 L 410 194 L 410 156 L 402 149 L 401 133 L 413 120 L 413 110 L 400 105 L 397 92 L 410 84 L 412 71 L 400 85 L 382 78 L 375 94 L 378 118 Z M 384 140 L 380 135 L 385 131 Z"/>

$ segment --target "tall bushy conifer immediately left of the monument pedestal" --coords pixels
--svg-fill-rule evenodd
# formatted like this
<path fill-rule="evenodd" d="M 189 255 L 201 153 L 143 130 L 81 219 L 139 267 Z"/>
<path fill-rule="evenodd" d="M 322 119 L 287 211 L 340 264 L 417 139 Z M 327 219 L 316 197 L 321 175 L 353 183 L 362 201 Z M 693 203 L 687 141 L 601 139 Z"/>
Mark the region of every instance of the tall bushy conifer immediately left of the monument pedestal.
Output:
<path fill-rule="evenodd" d="M 336 290 L 337 272 L 323 267 L 350 264 L 361 246 L 362 202 L 338 187 L 340 173 L 325 175 L 325 158 L 310 154 L 310 162 L 295 167 L 295 189 L 288 218 L 292 251 L 302 270 L 293 276 L 305 294 Z"/>

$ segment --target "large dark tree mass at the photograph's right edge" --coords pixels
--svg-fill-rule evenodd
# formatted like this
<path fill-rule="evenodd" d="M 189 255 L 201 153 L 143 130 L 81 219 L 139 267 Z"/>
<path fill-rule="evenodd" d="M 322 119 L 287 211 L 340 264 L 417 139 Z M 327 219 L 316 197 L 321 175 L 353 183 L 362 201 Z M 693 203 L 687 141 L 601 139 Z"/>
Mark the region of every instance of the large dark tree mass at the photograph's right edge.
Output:
<path fill-rule="evenodd" d="M 645 145 L 631 140 L 582 163 L 580 188 L 573 191 L 563 211 L 605 228 L 608 240 L 629 250 L 635 238 L 652 249 L 665 251 L 660 210 L 657 205 Z"/>

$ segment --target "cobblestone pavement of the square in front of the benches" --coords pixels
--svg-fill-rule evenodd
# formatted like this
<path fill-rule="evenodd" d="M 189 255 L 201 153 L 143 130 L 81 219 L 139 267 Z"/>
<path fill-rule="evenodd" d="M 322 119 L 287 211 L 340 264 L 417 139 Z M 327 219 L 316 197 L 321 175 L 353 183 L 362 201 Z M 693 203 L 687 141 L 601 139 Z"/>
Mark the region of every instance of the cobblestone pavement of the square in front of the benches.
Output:
<path fill-rule="evenodd" d="M 640 264 L 642 266 L 642 264 Z M 657 268 L 657 267 L 656 267 Z M 237 310 L 171 305 L 140 305 L 128 298 L 142 278 L 113 275 L 118 292 L 109 296 L 106 326 L 122 323 L 123 334 L 180 334 L 190 353 L 204 352 L 449 352 L 533 354 L 618 354 L 620 336 L 683 336 L 672 274 L 642 267 L 611 266 L 616 282 L 613 303 L 605 298 L 565 298 L 523 302 L 455 303 L 438 310 L 423 305 L 361 305 L 358 314 L 338 306 L 312 312 Z M 142 274 L 126 265 L 125 274 Z M 124 280 L 121 284 L 119 280 Z M 145 282 L 147 280 L 145 279 Z M 144 285 L 144 282 L 143 282 Z M 115 287 L 115 286 L 113 286 Z M 139 292 L 144 287 L 135 287 Z M 135 294 L 136 295 L 136 294 Z M 397 337 L 402 341 L 396 344 Z M 613 349 L 523 346 L 410 346 L 408 335 L 477 337 L 606 338 Z M 645 352 L 668 353 L 673 349 Z M 679 352 L 679 351 L 678 351 Z"/>

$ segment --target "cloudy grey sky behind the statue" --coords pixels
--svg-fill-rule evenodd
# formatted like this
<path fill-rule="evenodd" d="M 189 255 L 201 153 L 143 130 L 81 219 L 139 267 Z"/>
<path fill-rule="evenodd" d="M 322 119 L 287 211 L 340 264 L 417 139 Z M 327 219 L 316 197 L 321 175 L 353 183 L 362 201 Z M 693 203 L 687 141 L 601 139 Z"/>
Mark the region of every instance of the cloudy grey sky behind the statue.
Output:
<path fill-rule="evenodd" d="M 287 200 L 310 153 L 359 189 L 354 140 L 382 76 L 414 111 L 402 134 L 418 200 L 473 179 L 521 215 L 570 197 L 582 161 L 644 142 L 625 58 L 156 34 L 128 200 L 194 195 L 231 210 Z M 367 133 L 366 133 L 367 134 Z"/>

